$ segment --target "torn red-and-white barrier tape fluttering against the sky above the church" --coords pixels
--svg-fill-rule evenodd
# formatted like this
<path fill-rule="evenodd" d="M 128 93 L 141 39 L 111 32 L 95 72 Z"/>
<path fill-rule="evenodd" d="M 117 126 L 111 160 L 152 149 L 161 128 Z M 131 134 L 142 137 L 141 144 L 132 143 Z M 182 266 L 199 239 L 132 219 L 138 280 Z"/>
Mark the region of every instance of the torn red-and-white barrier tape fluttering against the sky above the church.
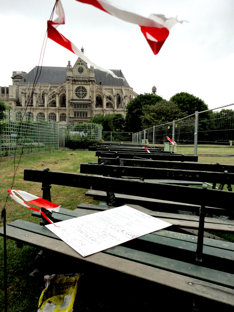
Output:
<path fill-rule="evenodd" d="M 136 24 L 140 26 L 141 32 L 143 33 L 145 39 L 149 43 L 154 54 L 158 54 L 163 43 L 169 35 L 169 30 L 176 23 L 183 23 L 185 21 L 178 21 L 177 17 L 166 18 L 163 14 L 150 14 L 149 17 L 144 17 L 133 12 L 125 11 L 119 7 L 115 7 L 111 2 L 105 0 L 76 0 L 78 2 L 83 2 L 86 4 L 93 5 L 94 7 L 117 17 L 125 22 Z M 91 66 L 98 68 L 101 71 L 105 71 L 107 74 L 112 75 L 115 78 L 120 78 L 116 76 L 113 71 L 103 68 L 94 64 L 90 61 L 84 53 L 82 53 L 70 40 L 64 37 L 60 32 L 56 30 L 59 25 L 65 24 L 65 14 L 63 11 L 62 3 L 60 0 L 56 1 L 56 14 L 58 17 L 54 21 L 47 21 L 47 36 L 51 40 L 65 47 L 69 51 L 73 52 L 79 56 L 83 61 L 89 63 Z M 80 12 L 80 8 L 79 8 Z M 122 78 L 123 79 L 123 78 Z"/>

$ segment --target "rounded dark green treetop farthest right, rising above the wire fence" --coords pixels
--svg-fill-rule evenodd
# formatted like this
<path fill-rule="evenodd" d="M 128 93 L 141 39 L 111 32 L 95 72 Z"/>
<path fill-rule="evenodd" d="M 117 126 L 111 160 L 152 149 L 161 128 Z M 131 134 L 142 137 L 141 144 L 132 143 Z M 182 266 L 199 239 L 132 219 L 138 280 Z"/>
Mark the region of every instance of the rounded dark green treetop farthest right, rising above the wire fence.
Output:
<path fill-rule="evenodd" d="M 196 111 L 208 110 L 208 105 L 202 99 L 187 92 L 176 93 L 169 101 L 175 102 L 179 109 L 187 115 L 192 115 Z"/>

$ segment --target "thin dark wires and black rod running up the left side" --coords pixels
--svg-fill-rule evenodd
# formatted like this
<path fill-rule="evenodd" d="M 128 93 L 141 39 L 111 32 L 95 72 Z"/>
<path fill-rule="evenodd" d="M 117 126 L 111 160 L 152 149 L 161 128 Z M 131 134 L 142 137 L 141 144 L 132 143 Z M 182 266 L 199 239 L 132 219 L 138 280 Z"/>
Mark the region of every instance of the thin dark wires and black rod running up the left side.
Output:
<path fill-rule="evenodd" d="M 56 0 L 57 2 L 58 0 Z M 55 10 L 55 7 L 56 7 L 56 2 L 55 2 L 55 5 L 53 7 L 53 10 L 51 12 L 51 16 L 50 16 L 50 21 L 52 20 L 53 18 L 53 15 L 54 15 L 54 10 Z M 48 26 L 47 26 L 47 29 L 46 29 L 46 34 L 47 34 L 47 31 L 48 31 Z M 42 48 L 41 48 L 41 54 L 42 54 L 42 51 L 43 51 L 43 46 L 44 46 L 44 43 L 45 43 L 45 38 L 46 38 L 46 34 L 45 34 L 45 37 L 44 37 L 44 40 L 43 40 L 43 44 L 42 44 Z M 47 43 L 47 39 L 46 38 L 46 43 Z M 39 59 L 39 62 L 38 62 L 38 66 L 37 66 L 37 73 L 36 73 L 36 76 L 35 76 L 35 79 L 34 79 L 34 82 L 33 82 L 33 85 L 32 85 L 32 93 L 31 93 L 31 96 L 29 98 L 29 101 L 27 103 L 27 106 L 26 106 L 26 109 L 25 109 L 25 112 L 24 112 L 24 115 L 22 116 L 22 119 L 21 119 L 21 122 L 19 124 L 19 130 L 18 130 L 18 134 L 17 134 L 17 141 L 16 141 L 16 147 L 15 147 L 15 153 L 14 153 L 14 174 L 13 174 L 13 178 L 12 178 L 12 184 L 11 184 L 11 190 L 14 186 L 14 183 L 15 183 L 15 177 L 16 177 L 16 173 L 17 173 L 17 169 L 19 167 L 19 164 L 20 164 L 20 161 L 21 161 L 21 157 L 22 157 L 22 154 L 23 154 L 23 149 L 24 149 L 24 144 L 25 144 L 25 140 L 26 140 L 26 136 L 27 136 L 27 132 L 28 132 L 28 128 L 29 128 L 29 121 L 30 121 L 30 114 L 31 114 L 31 110 L 32 110 L 32 103 L 33 103 L 33 92 L 36 88 L 36 85 L 37 85 L 37 81 L 38 79 L 40 78 L 40 75 L 41 75 L 41 70 L 42 70 L 42 63 L 43 63 L 43 58 L 44 58 L 44 54 L 45 54 L 45 50 L 46 50 L 46 43 L 45 43 L 45 46 L 44 46 L 44 51 L 43 51 L 43 56 L 42 56 L 42 60 L 41 60 L 41 54 L 40 54 L 40 59 Z M 37 78 L 37 74 L 38 74 L 38 71 L 39 71 L 39 65 L 40 65 L 40 61 L 41 61 L 41 70 L 40 70 L 40 73 L 38 75 L 38 78 Z M 17 144 L 18 144 L 18 139 L 19 139 L 19 133 L 20 133 L 20 129 L 21 129 L 21 125 L 22 125 L 22 121 L 23 121 L 23 118 L 24 116 L 26 115 L 26 111 L 27 111 L 27 108 L 29 106 L 29 103 L 31 104 L 30 105 L 30 110 L 28 114 L 28 120 L 27 120 L 27 128 L 26 128 L 26 132 L 25 132 L 25 135 L 24 135 L 24 142 L 23 142 L 23 146 L 22 146 L 22 151 L 21 151 L 21 154 L 20 154 L 20 158 L 19 158 L 19 162 L 17 164 L 17 167 L 15 166 L 15 156 L 16 156 L 16 149 L 17 149 Z M 15 168 L 16 167 L 16 168 Z M 4 204 L 4 207 L 2 208 L 2 212 L 1 212 L 1 219 L 0 219 L 0 223 L 3 221 L 3 252 L 4 252 L 4 308 L 5 308 L 5 312 L 7 312 L 7 233 L 6 233 L 6 204 L 7 204 L 7 199 L 9 197 L 10 193 L 7 194 L 7 198 L 6 198 L 6 201 L 5 201 L 5 204 Z"/>

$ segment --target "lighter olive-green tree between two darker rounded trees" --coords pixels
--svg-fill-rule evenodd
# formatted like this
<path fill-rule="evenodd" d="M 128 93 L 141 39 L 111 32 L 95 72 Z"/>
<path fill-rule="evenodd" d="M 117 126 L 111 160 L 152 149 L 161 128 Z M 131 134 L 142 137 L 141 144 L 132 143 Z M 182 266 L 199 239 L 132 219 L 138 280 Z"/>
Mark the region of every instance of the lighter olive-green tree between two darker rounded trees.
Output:
<path fill-rule="evenodd" d="M 154 105 L 145 105 L 142 110 L 142 127 L 144 129 L 165 124 L 176 119 L 185 117 L 178 105 L 171 101 L 160 101 Z"/>

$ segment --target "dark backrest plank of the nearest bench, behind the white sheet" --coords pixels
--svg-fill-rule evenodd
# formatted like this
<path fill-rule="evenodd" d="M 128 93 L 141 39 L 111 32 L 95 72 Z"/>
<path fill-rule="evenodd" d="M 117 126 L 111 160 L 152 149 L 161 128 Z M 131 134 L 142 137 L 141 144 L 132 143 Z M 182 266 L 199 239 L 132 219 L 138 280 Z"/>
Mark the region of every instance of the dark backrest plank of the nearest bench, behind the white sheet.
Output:
<path fill-rule="evenodd" d="M 94 188 L 99 191 L 113 192 L 127 195 L 150 194 L 151 198 L 164 200 L 166 194 L 171 198 L 178 198 L 183 203 L 193 205 L 205 205 L 208 207 L 225 208 L 233 210 L 234 193 L 228 191 L 202 189 L 189 186 L 178 186 L 162 183 L 149 183 L 144 181 L 132 181 L 127 179 L 109 178 L 84 175 L 78 173 L 61 173 L 55 171 L 24 170 L 24 180 L 42 182 L 46 178 L 48 183 L 71 186 L 77 188 Z M 151 208 L 151 207 L 150 207 Z M 151 208 L 157 210 L 156 207 Z"/>

